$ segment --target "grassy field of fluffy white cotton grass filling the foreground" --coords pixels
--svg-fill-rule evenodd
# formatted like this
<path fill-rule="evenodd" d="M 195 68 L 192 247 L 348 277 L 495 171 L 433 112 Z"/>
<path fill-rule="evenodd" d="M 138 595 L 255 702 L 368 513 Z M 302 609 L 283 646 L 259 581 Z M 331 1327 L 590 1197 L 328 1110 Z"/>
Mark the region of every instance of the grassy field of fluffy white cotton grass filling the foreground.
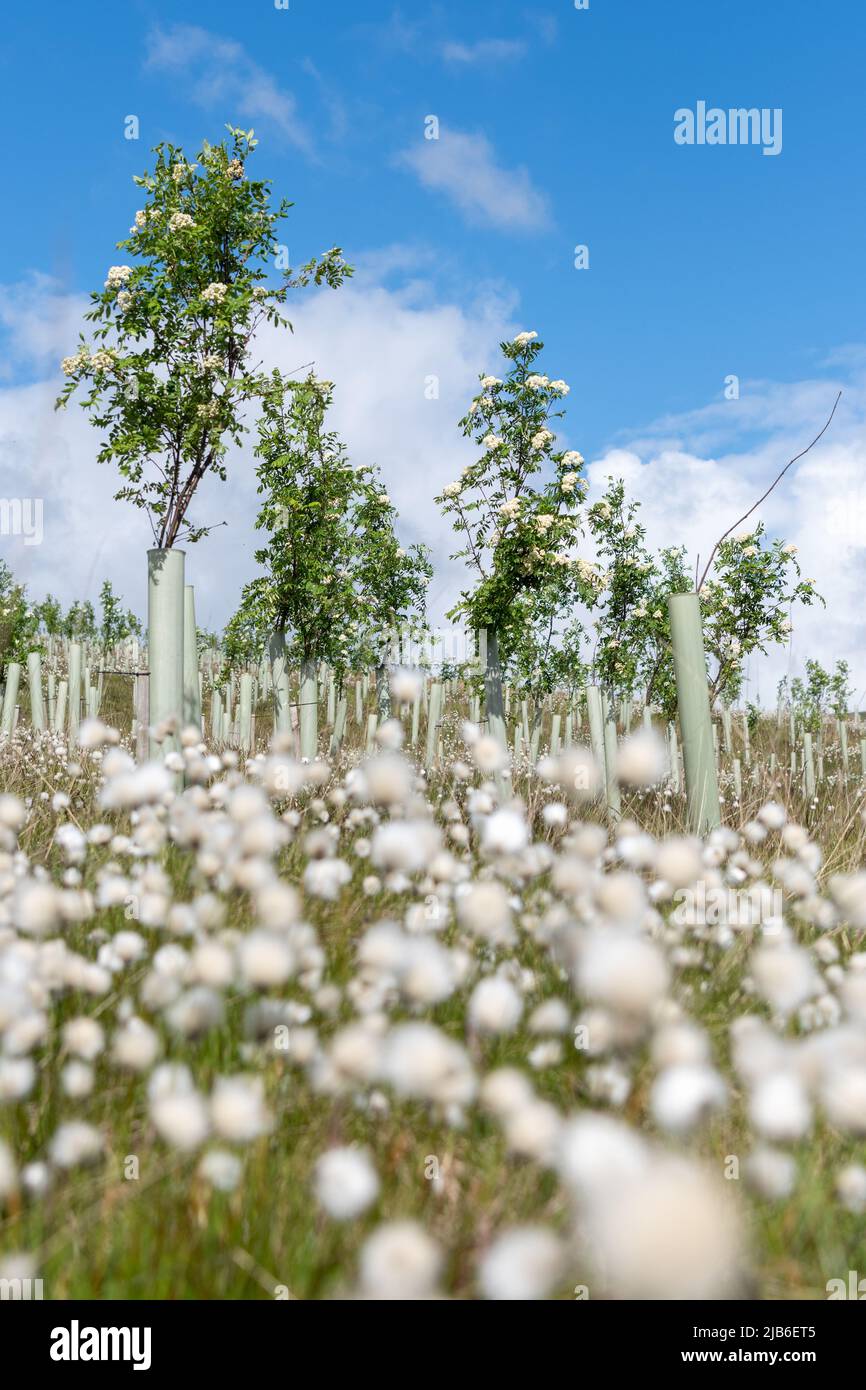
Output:
<path fill-rule="evenodd" d="M 514 767 L 496 813 L 466 709 L 430 777 L 406 746 L 366 760 L 353 724 L 313 769 L 190 738 L 183 791 L 99 731 L 0 748 L 0 1275 L 46 1298 L 784 1300 L 859 1268 L 856 738 L 844 774 L 827 733 L 808 802 L 766 719 L 741 802 L 723 759 L 733 834 L 695 845 L 664 783 L 609 826 L 567 752 Z M 118 680 L 121 748 L 129 714 Z M 677 876 L 765 883 L 783 915 L 683 924 Z"/>

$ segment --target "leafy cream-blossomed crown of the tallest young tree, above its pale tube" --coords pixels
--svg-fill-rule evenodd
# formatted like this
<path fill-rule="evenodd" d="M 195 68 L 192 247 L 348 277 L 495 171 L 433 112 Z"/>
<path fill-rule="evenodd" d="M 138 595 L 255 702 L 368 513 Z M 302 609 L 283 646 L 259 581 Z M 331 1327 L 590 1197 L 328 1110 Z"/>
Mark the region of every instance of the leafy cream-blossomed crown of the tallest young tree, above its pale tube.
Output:
<path fill-rule="evenodd" d="M 97 459 L 117 464 L 117 496 L 147 514 L 158 549 L 210 530 L 189 509 L 209 473 L 225 478 L 243 407 L 264 388 L 250 366 L 257 327 L 288 324 L 281 309 L 293 288 L 352 274 L 335 247 L 265 285 L 292 204 L 272 207 L 270 183 L 249 177 L 253 132 L 228 129 L 229 140 L 204 143 L 195 163 L 177 146 L 156 147 L 153 171 L 135 179 L 143 207 L 118 242 L 132 264 L 110 267 L 86 314 L 93 342 L 82 336 L 63 361 L 58 406 L 86 389 L 82 404 L 104 434 Z"/>

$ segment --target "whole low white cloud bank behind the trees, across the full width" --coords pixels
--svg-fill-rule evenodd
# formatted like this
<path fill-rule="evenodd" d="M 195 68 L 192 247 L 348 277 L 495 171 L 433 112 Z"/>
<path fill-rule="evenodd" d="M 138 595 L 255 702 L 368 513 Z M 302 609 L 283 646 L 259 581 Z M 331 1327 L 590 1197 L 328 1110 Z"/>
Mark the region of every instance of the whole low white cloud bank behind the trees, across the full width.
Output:
<path fill-rule="evenodd" d="M 391 288 L 385 278 L 402 284 Z M 143 614 L 146 518 L 113 500 L 117 474 L 96 463 L 99 435 L 83 411 L 74 402 L 53 410 L 58 377 L 56 367 L 47 377 L 46 363 L 56 364 L 74 345 L 83 307 L 82 296 L 64 295 L 44 277 L 0 288 L 0 321 L 14 329 L 4 357 L 15 378 L 42 371 L 35 384 L 0 386 L 0 496 L 42 498 L 44 509 L 43 545 L 1 537 L 0 555 L 35 598 L 50 589 L 67 603 L 96 600 L 110 577 Z M 438 302 L 425 254 L 393 246 L 361 257 L 357 277 L 342 289 L 300 296 L 291 313 L 295 332 L 268 329 L 257 345 L 265 367 L 291 371 L 314 361 L 336 382 L 332 423 L 352 459 L 381 466 L 402 535 L 432 548 L 435 623 L 456 600 L 466 571 L 448 559 L 456 538 L 432 498 L 473 459 L 456 423 L 478 374 L 495 370 L 500 339 L 523 327 L 513 322 L 514 307 L 513 297 L 487 288 L 474 302 L 459 293 L 452 303 Z M 431 400 L 432 377 L 439 395 Z M 771 534 L 799 546 L 803 574 L 827 599 L 826 610 L 795 610 L 791 651 L 752 662 L 749 694 L 766 705 L 778 677 L 801 670 L 806 656 L 826 666 L 847 657 L 858 692 L 866 689 L 866 381 L 852 375 L 841 384 L 845 395 L 830 431 L 758 513 Z M 596 456 L 591 496 L 609 474 L 623 477 L 642 503 L 649 543 L 685 543 L 694 563 L 813 438 L 835 389 L 834 381 L 744 382 L 740 402 L 656 421 L 639 439 Z M 564 442 L 581 441 L 566 434 Z M 211 628 L 222 627 L 256 571 L 253 443 L 254 434 L 229 457 L 229 481 L 209 481 L 196 500 L 200 523 L 228 520 L 188 549 L 199 621 Z"/>

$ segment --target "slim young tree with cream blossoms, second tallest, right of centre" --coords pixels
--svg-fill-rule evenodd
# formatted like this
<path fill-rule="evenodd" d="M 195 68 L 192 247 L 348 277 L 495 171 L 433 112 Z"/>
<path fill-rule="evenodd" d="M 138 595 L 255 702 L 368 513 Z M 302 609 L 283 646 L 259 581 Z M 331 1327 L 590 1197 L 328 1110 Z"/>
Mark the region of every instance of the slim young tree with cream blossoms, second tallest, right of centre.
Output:
<path fill-rule="evenodd" d="M 464 559 L 475 580 L 449 617 L 487 630 L 488 719 L 502 734 L 502 667 L 520 651 L 521 669 L 531 671 L 531 653 L 549 648 L 588 582 L 574 555 L 584 460 L 556 449 L 550 428 L 563 416 L 556 407 L 569 386 L 537 370 L 544 349 L 537 334 L 518 334 L 500 348 L 506 377 L 481 377 L 481 391 L 460 421 L 482 453 L 436 502 L 464 541 L 452 559 Z M 538 486 L 542 473 L 548 481 Z"/>

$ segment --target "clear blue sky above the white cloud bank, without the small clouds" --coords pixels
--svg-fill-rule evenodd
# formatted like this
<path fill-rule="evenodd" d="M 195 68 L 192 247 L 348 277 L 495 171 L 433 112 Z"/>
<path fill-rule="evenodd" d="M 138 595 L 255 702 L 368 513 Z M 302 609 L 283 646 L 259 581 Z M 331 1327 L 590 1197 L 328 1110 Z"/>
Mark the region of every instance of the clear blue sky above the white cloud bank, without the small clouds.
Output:
<path fill-rule="evenodd" d="M 719 396 L 727 373 L 792 379 L 862 336 L 863 6 L 289 6 L 14 7 L 1 76 L 24 138 L 6 275 L 100 284 L 149 147 L 195 146 L 234 120 L 256 125 L 260 168 L 296 202 L 293 256 L 409 243 L 431 253 L 443 292 L 516 292 L 552 373 L 573 382 L 589 450 Z M 224 96 L 196 97 L 197 76 L 147 64 L 154 35 L 178 25 L 245 50 Z M 293 97 L 293 120 L 249 108 L 245 83 L 264 76 Z M 676 146 L 673 111 L 698 99 L 781 107 L 781 156 Z M 129 113 L 138 142 L 124 139 Z M 484 135 L 502 170 L 527 171 L 538 204 L 525 227 L 467 221 L 395 164 L 431 113 L 445 132 Z M 573 267 L 577 243 L 588 271 Z"/>

